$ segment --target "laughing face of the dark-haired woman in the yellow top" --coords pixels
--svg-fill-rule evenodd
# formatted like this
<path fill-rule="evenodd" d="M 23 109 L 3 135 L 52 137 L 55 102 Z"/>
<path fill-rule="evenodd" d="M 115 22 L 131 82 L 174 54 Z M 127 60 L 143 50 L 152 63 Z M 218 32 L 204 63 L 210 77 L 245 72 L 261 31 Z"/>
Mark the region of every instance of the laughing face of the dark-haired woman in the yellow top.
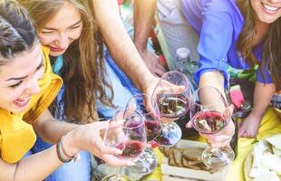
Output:
<path fill-rule="evenodd" d="M 25 110 L 32 95 L 39 93 L 38 80 L 44 76 L 41 45 L 19 53 L 0 66 L 0 108 L 11 112 Z"/>

